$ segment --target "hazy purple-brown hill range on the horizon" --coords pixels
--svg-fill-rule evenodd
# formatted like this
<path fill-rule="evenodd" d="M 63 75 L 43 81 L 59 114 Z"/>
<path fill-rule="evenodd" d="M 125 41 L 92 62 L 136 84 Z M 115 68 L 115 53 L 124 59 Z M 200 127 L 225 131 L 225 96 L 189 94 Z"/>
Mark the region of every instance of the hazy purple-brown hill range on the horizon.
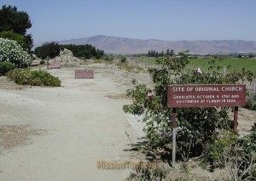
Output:
<path fill-rule="evenodd" d="M 124 37 L 108 37 L 98 35 L 59 42 L 60 44 L 91 44 L 102 49 L 107 54 L 147 54 L 148 50 L 175 52 L 189 50 L 191 54 L 218 54 L 218 53 L 253 53 L 256 54 L 256 42 L 243 40 L 212 40 L 212 41 L 161 41 L 141 40 Z"/>

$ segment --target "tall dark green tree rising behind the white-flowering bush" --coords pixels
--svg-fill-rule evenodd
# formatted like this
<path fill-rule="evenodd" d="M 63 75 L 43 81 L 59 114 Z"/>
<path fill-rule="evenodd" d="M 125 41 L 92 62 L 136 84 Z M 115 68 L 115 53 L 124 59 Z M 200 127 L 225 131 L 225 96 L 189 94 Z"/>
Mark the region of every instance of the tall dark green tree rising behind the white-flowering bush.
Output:
<path fill-rule="evenodd" d="M 32 35 L 26 35 L 26 30 L 32 27 L 29 15 L 24 11 L 18 11 L 14 6 L 4 5 L 0 9 L 0 31 L 14 31 L 25 37 L 27 48 L 32 48 Z"/>

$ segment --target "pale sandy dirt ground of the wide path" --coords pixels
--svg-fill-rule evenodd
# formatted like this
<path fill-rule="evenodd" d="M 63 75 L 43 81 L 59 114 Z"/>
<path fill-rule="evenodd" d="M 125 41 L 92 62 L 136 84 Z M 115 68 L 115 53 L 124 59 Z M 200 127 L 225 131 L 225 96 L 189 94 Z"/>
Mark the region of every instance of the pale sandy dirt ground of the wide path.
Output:
<path fill-rule="evenodd" d="M 74 71 L 84 68 L 94 70 L 95 78 L 75 79 Z M 92 63 L 49 72 L 60 77 L 61 88 L 19 86 L 0 76 L 0 180 L 127 178 L 131 167 L 97 163 L 144 161 L 142 154 L 127 151 L 143 133 L 122 106 L 131 101 L 125 96 L 131 78 L 152 85 L 150 76 Z M 255 111 L 240 109 L 241 133 L 255 118 Z"/>

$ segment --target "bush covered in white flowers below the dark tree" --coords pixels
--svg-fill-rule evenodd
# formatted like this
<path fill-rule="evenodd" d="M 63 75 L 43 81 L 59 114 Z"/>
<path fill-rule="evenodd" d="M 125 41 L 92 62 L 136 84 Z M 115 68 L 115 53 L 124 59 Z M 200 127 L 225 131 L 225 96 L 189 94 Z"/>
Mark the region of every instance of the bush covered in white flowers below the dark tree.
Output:
<path fill-rule="evenodd" d="M 11 62 L 17 68 L 26 68 L 31 64 L 31 57 L 19 43 L 14 40 L 0 38 L 0 62 Z"/>

